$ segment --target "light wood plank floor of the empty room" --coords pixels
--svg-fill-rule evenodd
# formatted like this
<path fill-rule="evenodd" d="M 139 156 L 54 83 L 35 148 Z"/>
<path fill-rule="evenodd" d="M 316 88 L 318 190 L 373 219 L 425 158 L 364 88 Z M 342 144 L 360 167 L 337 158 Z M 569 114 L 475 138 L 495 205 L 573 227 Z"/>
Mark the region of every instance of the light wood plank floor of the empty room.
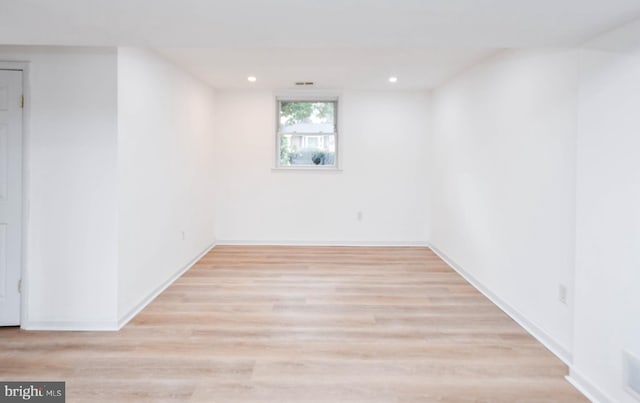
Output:
<path fill-rule="evenodd" d="M 219 246 L 120 332 L 0 329 L 68 402 L 585 402 L 426 248 Z"/>

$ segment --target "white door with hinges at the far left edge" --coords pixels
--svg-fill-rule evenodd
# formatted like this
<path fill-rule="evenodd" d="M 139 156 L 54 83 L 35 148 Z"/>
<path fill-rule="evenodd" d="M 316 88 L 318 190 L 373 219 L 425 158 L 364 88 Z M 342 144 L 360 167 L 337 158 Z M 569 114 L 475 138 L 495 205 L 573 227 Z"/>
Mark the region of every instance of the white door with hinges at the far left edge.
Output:
<path fill-rule="evenodd" d="M 0 70 L 0 326 L 20 324 L 22 71 Z"/>

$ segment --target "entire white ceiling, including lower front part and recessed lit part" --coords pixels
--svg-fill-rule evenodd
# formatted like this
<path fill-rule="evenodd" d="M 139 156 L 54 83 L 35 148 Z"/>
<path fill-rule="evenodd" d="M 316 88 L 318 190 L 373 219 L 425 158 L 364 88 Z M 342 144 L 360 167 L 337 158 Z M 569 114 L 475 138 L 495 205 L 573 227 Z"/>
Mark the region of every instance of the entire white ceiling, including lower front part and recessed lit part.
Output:
<path fill-rule="evenodd" d="M 144 46 L 216 87 L 424 89 L 500 48 L 571 47 L 640 0 L 0 0 L 0 43 Z"/>

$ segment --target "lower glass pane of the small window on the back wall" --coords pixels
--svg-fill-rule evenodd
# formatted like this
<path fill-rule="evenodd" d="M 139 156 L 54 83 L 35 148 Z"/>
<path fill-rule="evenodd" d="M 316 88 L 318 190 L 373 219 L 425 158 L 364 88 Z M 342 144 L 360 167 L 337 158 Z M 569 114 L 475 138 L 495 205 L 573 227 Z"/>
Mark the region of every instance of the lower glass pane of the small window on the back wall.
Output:
<path fill-rule="evenodd" d="M 335 166 L 336 136 L 283 134 L 280 136 L 280 166 Z"/>

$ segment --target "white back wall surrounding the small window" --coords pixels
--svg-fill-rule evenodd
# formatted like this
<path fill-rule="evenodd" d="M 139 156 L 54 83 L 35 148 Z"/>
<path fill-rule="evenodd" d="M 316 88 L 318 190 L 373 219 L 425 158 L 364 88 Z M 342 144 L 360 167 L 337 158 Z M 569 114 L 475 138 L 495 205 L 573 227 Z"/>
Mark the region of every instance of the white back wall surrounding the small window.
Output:
<path fill-rule="evenodd" d="M 424 243 L 427 106 L 424 93 L 343 93 L 342 171 L 282 172 L 274 94 L 217 92 L 218 241 Z"/>

